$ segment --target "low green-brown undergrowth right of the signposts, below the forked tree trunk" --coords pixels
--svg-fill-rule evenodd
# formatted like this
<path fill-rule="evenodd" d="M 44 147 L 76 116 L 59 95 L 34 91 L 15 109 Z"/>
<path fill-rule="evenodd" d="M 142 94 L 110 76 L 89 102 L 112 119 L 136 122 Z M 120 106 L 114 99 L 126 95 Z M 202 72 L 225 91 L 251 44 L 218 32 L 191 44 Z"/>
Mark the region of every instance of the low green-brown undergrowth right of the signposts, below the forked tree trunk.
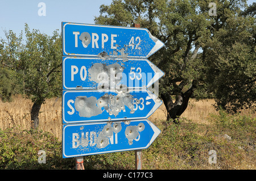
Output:
<path fill-rule="evenodd" d="M 222 111 L 211 115 L 210 120 L 213 125 L 186 119 L 179 124 L 168 123 L 143 150 L 143 169 L 250 169 L 256 159 L 255 118 Z M 216 151 L 216 164 L 209 164 L 210 150 Z"/>

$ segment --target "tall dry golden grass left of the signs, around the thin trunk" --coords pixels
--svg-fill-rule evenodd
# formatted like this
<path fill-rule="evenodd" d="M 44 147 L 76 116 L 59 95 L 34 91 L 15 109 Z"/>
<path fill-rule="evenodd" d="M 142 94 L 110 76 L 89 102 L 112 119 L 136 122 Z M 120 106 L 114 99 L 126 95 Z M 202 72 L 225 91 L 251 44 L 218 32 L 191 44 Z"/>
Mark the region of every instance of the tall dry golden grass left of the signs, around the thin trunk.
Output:
<path fill-rule="evenodd" d="M 0 128 L 11 128 L 15 125 L 21 129 L 30 129 L 31 107 L 31 100 L 22 98 L 22 95 L 15 95 L 10 103 L 0 100 Z M 40 109 L 39 129 L 51 132 L 61 140 L 61 125 L 61 98 L 47 99 Z"/>

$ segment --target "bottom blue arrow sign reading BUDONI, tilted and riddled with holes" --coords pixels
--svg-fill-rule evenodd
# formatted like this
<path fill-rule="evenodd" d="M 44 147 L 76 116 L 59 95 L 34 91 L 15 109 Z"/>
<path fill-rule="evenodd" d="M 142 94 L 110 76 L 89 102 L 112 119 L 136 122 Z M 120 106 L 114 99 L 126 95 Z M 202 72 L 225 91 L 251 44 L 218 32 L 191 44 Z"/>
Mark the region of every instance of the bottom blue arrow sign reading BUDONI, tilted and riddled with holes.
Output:
<path fill-rule="evenodd" d="M 63 158 L 146 149 L 160 130 L 148 120 L 63 125 Z"/>

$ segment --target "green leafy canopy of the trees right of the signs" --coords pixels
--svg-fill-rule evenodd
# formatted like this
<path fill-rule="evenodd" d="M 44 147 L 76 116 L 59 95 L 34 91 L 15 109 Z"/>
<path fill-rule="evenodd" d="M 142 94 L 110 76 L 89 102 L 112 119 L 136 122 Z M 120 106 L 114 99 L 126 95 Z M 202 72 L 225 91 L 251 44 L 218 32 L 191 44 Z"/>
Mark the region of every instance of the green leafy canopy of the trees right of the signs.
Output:
<path fill-rule="evenodd" d="M 217 16 L 200 0 L 115 0 L 100 6 L 96 24 L 148 28 L 165 44 L 150 57 L 166 74 L 159 93 L 215 98 L 230 112 L 253 108 L 255 88 L 254 5 L 245 0 L 215 1 Z M 242 11 L 244 9 L 244 11 Z M 167 108 L 168 110 L 168 108 Z"/>

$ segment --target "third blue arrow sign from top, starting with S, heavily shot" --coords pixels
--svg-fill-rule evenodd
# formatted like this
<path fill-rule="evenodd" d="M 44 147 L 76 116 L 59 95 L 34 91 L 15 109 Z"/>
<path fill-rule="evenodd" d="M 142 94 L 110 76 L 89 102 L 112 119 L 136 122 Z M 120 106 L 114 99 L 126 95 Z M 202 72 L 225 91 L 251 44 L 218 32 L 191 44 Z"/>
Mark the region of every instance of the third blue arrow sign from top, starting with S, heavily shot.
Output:
<path fill-rule="evenodd" d="M 63 124 L 146 119 L 161 104 L 143 89 L 63 91 Z"/>

